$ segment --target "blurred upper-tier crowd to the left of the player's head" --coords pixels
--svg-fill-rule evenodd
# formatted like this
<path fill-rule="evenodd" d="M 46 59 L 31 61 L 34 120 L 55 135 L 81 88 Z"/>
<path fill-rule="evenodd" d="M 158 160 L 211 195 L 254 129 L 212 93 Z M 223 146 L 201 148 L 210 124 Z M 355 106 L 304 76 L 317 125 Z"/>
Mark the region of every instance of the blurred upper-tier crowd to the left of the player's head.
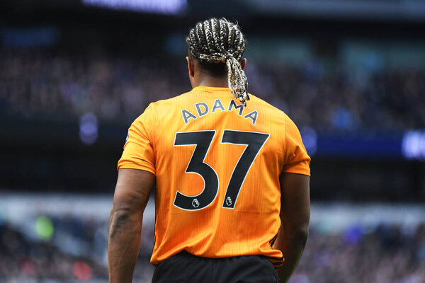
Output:
<path fill-rule="evenodd" d="M 123 59 L 101 54 L 0 52 L 0 108 L 6 115 L 94 113 L 103 120 L 134 120 L 155 100 L 190 89 L 184 58 Z"/>

